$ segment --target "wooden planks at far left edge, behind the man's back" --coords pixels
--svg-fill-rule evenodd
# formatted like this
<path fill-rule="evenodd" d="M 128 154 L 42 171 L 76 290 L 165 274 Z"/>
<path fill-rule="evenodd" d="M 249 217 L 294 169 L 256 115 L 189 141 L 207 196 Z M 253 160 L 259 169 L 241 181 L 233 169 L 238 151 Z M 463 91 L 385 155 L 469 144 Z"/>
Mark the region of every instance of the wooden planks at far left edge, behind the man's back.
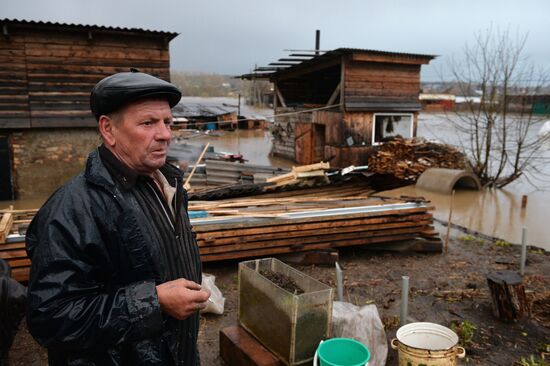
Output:
<path fill-rule="evenodd" d="M 5 260 L 17 281 L 29 277 L 31 261 L 25 250 L 24 235 L 29 223 L 38 210 L 0 210 L 0 258 Z M 16 237 L 9 240 L 8 236 Z"/>

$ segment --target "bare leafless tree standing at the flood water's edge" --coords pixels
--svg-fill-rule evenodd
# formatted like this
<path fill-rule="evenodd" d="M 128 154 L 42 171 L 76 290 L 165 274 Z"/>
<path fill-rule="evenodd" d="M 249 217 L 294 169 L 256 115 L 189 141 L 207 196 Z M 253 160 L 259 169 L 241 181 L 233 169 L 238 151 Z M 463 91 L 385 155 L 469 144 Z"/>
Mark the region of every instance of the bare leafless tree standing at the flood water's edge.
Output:
<path fill-rule="evenodd" d="M 536 175 L 548 136 L 538 136 L 542 116 L 533 114 L 534 98 L 547 73 L 524 56 L 525 34 L 489 28 L 466 44 L 451 71 L 466 106 L 451 117 L 467 136 L 463 150 L 485 186 L 504 187 L 520 176 Z M 480 101 L 471 96 L 479 95 Z"/>

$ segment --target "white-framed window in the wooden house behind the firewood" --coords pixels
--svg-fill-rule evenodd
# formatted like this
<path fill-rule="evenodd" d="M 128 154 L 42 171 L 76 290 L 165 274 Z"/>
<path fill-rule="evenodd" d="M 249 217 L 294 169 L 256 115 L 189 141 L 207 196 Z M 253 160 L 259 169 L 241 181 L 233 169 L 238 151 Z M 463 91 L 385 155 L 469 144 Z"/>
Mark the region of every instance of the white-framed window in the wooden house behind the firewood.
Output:
<path fill-rule="evenodd" d="M 413 115 L 375 113 L 372 127 L 372 144 L 379 145 L 393 137 L 410 139 L 413 137 Z"/>

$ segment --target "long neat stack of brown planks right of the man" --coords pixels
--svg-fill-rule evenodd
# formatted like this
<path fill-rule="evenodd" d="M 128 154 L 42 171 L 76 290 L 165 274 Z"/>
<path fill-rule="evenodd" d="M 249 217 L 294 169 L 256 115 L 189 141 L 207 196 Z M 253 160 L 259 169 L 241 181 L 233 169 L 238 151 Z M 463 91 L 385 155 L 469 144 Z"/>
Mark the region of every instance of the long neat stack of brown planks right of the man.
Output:
<path fill-rule="evenodd" d="M 259 199 L 209 207 L 195 220 L 203 261 L 424 239 L 437 241 L 423 202 L 378 197 Z M 203 207 L 204 208 L 204 207 Z"/>

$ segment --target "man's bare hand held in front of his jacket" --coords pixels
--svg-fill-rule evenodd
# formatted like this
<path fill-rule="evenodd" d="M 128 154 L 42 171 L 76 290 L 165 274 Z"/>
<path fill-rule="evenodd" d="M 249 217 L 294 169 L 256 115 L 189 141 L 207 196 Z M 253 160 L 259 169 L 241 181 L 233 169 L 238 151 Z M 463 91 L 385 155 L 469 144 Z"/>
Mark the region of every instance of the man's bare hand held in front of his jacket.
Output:
<path fill-rule="evenodd" d="M 201 290 L 198 283 L 178 278 L 158 285 L 157 296 L 163 312 L 183 320 L 206 307 L 210 291 Z"/>

